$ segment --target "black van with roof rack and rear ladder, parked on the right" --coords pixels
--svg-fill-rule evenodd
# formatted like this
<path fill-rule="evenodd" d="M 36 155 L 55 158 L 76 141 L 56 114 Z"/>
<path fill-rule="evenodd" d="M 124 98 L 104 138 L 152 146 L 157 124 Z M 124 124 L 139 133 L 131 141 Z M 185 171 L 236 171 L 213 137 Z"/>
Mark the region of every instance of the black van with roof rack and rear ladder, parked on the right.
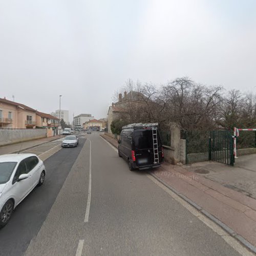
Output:
<path fill-rule="evenodd" d="M 133 123 L 122 127 L 118 140 L 118 156 L 129 164 L 129 169 L 159 167 L 163 162 L 163 147 L 158 123 Z"/>

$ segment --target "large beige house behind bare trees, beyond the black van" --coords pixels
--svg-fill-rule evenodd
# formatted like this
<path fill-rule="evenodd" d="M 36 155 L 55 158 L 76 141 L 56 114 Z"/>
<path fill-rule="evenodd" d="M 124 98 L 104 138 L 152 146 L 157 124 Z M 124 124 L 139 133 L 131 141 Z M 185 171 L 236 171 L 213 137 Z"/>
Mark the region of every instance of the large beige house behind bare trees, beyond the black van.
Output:
<path fill-rule="evenodd" d="M 119 94 L 118 102 L 112 103 L 109 107 L 108 111 L 108 133 L 111 133 L 111 123 L 113 120 L 118 119 L 122 112 L 125 112 L 127 108 L 131 108 L 132 106 L 138 106 L 140 104 L 144 104 L 142 98 L 144 95 L 140 92 L 131 91 L 129 93 L 124 92 Z"/>

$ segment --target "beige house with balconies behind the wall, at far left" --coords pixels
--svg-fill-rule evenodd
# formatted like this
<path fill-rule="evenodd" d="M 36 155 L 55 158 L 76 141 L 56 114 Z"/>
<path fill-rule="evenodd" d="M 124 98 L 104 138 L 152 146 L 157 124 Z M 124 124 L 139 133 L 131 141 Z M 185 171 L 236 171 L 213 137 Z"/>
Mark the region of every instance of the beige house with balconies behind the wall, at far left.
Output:
<path fill-rule="evenodd" d="M 0 128 L 34 129 L 36 110 L 6 98 L 0 98 Z"/>

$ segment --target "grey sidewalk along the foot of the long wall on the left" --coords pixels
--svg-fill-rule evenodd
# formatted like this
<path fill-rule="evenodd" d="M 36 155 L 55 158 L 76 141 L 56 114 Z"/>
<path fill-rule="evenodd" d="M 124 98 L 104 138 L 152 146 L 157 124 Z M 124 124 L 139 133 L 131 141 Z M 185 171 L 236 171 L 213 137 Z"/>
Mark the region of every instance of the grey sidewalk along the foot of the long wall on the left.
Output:
<path fill-rule="evenodd" d="M 47 143 L 49 141 L 57 140 L 57 139 L 60 139 L 62 137 L 65 137 L 65 136 L 56 135 L 54 137 L 41 138 L 41 139 L 37 139 L 37 140 L 29 140 L 29 141 L 15 143 L 15 144 L 11 144 L 11 145 L 0 146 L 0 155 L 10 154 L 10 153 L 17 153 L 19 151 L 28 150 L 29 148 Z"/>

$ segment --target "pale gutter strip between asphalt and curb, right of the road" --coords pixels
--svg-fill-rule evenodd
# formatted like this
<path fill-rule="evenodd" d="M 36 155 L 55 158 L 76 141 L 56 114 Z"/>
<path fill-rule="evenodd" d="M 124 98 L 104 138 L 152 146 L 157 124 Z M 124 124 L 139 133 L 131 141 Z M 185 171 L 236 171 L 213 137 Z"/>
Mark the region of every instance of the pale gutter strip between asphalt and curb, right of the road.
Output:
<path fill-rule="evenodd" d="M 226 243 L 231 246 L 234 250 L 236 250 L 241 255 L 248 255 L 253 256 L 254 254 L 249 251 L 247 248 L 242 246 L 235 238 L 231 237 L 229 233 L 227 233 L 224 229 L 222 229 L 218 224 L 211 221 L 209 218 L 201 214 L 195 207 L 187 203 L 185 200 L 183 200 L 181 197 L 176 195 L 172 190 L 170 190 L 168 187 L 163 185 L 161 182 L 159 182 L 156 178 L 153 176 L 147 174 L 148 178 L 150 178 L 155 184 L 157 184 L 159 187 L 161 187 L 167 194 L 169 194 L 171 197 L 173 197 L 177 202 L 179 202 L 181 205 L 183 205 L 187 210 L 191 212 L 194 216 L 196 216 L 200 221 L 202 221 L 206 226 L 211 228 L 214 232 L 219 234 L 222 239 L 226 241 Z"/>

